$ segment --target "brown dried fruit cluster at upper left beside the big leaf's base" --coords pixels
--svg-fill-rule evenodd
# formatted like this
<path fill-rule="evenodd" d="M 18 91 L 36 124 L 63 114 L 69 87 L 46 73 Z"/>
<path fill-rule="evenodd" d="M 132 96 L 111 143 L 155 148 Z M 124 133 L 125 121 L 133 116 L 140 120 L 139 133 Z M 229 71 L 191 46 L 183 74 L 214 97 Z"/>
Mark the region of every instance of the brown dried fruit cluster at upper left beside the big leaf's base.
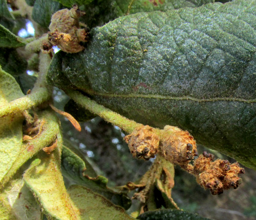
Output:
<path fill-rule="evenodd" d="M 70 10 L 65 8 L 53 14 L 49 26 L 48 41 L 42 42 L 42 48 L 46 52 L 51 51 L 52 46 L 58 46 L 67 53 L 77 53 L 84 47 L 81 42 L 89 39 L 89 29 L 85 24 L 79 23 L 79 17 L 84 15 L 77 5 Z M 84 26 L 84 28 L 80 28 Z"/>

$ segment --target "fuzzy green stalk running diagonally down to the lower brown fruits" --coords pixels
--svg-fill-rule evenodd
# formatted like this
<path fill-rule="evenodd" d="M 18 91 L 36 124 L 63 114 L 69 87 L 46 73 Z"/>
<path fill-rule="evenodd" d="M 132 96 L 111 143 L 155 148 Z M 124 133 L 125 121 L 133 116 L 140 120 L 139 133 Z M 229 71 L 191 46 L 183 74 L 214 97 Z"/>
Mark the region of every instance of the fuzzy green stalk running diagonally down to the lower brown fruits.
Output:
<path fill-rule="evenodd" d="M 102 117 L 104 120 L 114 124 L 115 126 L 120 127 L 124 131 L 128 132 L 129 134 L 138 127 L 142 126 L 133 120 L 129 120 L 124 116 L 119 115 L 116 112 L 111 111 L 108 108 L 105 108 L 102 105 L 99 105 L 95 101 L 89 99 L 88 97 L 84 96 L 80 92 L 73 91 L 73 90 L 65 90 L 68 96 L 70 96 L 76 103 L 82 105 L 82 107 L 86 108 L 90 112 Z"/>

